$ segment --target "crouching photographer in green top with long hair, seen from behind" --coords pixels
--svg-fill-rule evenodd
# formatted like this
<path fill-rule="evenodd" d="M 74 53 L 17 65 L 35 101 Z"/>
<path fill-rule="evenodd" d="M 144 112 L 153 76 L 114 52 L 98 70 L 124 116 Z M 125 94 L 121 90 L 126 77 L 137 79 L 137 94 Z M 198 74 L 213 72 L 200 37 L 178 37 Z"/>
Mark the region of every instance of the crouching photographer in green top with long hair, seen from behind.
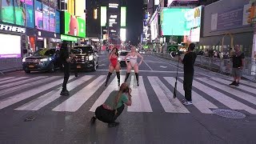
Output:
<path fill-rule="evenodd" d="M 119 122 L 114 122 L 122 110 L 127 106 L 131 106 L 131 89 L 127 83 L 122 83 L 120 90 L 113 90 L 106 101 L 95 110 L 95 116 L 90 122 L 94 124 L 96 119 L 108 123 L 109 127 L 118 126 Z"/>

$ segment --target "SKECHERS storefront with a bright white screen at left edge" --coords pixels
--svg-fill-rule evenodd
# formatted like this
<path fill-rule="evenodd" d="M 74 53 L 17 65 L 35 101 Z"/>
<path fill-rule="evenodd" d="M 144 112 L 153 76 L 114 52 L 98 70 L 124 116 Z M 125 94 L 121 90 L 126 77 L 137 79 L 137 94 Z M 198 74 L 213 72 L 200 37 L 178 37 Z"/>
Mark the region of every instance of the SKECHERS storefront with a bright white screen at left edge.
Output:
<path fill-rule="evenodd" d="M 26 50 L 26 28 L 0 22 L 0 43 L 0 70 L 21 66 Z"/>

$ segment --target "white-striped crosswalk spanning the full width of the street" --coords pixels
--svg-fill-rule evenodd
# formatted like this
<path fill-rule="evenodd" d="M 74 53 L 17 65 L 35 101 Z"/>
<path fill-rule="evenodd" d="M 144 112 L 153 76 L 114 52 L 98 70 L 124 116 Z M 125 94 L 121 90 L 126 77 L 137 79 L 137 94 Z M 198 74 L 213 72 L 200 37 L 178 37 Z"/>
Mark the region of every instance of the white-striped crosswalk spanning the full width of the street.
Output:
<path fill-rule="evenodd" d="M 118 90 L 116 77 L 104 86 L 106 75 L 85 75 L 70 77 L 67 89 L 70 97 L 58 102 L 63 79 L 61 76 L 38 77 L 6 77 L 0 78 L 0 112 L 3 109 L 41 110 L 57 101 L 53 112 L 76 112 L 87 104 L 89 111 L 94 112 L 106 101 L 112 90 Z M 178 78 L 178 97 L 173 98 L 174 77 L 140 76 L 140 86 L 131 75 L 128 82 L 132 88 L 132 106 L 127 112 L 154 113 L 155 106 L 160 106 L 166 113 L 189 114 L 194 107 L 202 114 L 213 114 L 212 110 L 227 107 L 230 110 L 242 110 L 248 114 L 256 114 L 256 84 L 242 81 L 238 87 L 230 87 L 231 79 L 225 78 L 194 78 L 192 106 L 183 106 L 184 90 L 182 77 Z M 121 75 L 121 82 L 124 76 Z M 89 99 L 94 99 L 92 103 Z"/>

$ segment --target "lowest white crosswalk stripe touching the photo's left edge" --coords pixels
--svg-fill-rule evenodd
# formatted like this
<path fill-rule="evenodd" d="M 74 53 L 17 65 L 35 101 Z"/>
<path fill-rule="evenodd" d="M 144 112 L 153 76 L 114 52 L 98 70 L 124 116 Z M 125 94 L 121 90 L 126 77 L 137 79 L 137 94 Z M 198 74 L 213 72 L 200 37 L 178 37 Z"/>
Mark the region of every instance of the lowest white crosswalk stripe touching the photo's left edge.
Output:
<path fill-rule="evenodd" d="M 70 77 L 70 79 L 73 79 L 73 78 L 74 78 L 74 76 Z M 35 94 L 39 94 L 42 91 L 45 91 L 54 86 L 57 86 L 57 85 L 61 84 L 62 82 L 63 82 L 63 79 L 59 79 L 57 81 L 50 82 L 46 85 L 38 86 L 37 88 L 27 90 L 25 92 L 22 92 L 21 94 L 16 94 L 10 98 L 3 99 L 2 101 L 0 101 L 0 110 L 2 110 L 3 108 L 6 108 L 7 106 L 13 105 L 14 103 L 20 102 L 26 98 L 30 98 L 30 97 L 34 96 Z"/>

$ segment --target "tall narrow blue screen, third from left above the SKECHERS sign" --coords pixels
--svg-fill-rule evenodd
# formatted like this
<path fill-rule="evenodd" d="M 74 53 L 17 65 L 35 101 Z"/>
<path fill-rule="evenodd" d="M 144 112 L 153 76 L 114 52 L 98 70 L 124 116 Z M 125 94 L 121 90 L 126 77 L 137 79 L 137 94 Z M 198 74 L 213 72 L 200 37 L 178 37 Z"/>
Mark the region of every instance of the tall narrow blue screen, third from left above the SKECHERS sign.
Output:
<path fill-rule="evenodd" d="M 26 0 L 26 26 L 34 28 L 34 2 L 32 0 Z"/>

